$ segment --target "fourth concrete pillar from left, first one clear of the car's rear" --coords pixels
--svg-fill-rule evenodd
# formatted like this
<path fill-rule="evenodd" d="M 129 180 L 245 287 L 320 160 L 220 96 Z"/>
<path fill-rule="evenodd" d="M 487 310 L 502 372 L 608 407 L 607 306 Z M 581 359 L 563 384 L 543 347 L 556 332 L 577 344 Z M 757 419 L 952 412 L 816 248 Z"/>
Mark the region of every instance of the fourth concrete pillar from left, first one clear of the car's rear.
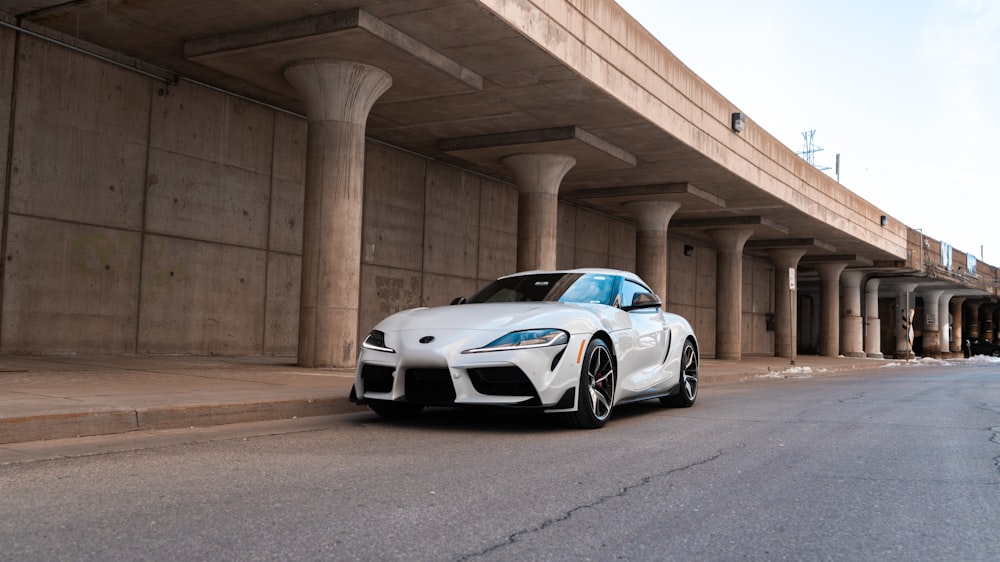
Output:
<path fill-rule="evenodd" d="M 750 229 L 709 230 L 716 252 L 715 357 L 743 356 L 743 245 Z"/>

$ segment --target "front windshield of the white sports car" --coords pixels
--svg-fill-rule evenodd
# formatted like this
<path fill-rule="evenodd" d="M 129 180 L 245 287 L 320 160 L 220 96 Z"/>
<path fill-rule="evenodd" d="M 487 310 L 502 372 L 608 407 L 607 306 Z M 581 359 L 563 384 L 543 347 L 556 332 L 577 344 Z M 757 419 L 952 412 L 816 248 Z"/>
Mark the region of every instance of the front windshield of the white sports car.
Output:
<path fill-rule="evenodd" d="M 598 273 L 536 273 L 497 279 L 469 298 L 485 302 L 576 302 L 612 305 L 615 277 Z"/>

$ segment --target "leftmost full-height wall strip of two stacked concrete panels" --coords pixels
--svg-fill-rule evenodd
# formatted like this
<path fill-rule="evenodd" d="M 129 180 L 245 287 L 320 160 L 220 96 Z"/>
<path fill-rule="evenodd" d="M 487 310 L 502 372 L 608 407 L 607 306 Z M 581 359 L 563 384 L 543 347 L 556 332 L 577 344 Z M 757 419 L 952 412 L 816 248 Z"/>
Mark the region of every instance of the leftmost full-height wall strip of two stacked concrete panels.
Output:
<path fill-rule="evenodd" d="M 0 348 L 130 352 L 151 84 L 18 39 Z"/>

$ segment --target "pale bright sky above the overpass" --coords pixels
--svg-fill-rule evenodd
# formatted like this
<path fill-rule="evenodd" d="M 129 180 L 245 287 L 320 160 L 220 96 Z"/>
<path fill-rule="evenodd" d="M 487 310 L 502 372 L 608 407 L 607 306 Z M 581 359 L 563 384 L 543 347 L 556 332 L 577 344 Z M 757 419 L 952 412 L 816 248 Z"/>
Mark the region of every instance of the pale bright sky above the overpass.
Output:
<path fill-rule="evenodd" d="M 893 219 L 1000 265 L 1000 0 L 618 0 Z"/>

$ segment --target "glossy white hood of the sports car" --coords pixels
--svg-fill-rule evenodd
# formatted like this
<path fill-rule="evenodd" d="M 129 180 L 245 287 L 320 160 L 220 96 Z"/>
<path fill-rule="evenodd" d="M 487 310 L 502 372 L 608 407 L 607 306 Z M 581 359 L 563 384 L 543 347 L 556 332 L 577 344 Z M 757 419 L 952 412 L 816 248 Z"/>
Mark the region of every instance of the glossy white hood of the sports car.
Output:
<path fill-rule="evenodd" d="M 592 333 L 598 325 L 614 329 L 622 311 L 601 305 L 560 302 L 482 303 L 415 308 L 393 314 L 375 329 L 383 332 L 410 330 L 481 330 L 510 332 L 536 328 L 559 328 L 571 334 Z"/>

